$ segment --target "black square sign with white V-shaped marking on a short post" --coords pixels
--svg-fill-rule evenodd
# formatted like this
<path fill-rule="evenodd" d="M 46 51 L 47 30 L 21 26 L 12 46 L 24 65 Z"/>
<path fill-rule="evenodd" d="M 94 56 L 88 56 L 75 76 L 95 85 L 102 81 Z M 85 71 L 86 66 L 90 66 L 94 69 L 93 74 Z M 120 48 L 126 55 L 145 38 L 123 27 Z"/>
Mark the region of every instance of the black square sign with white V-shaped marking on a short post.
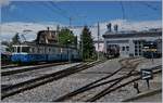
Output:
<path fill-rule="evenodd" d="M 152 69 L 142 68 L 141 69 L 141 79 L 147 81 L 148 89 L 150 89 L 149 80 L 153 79 Z"/>

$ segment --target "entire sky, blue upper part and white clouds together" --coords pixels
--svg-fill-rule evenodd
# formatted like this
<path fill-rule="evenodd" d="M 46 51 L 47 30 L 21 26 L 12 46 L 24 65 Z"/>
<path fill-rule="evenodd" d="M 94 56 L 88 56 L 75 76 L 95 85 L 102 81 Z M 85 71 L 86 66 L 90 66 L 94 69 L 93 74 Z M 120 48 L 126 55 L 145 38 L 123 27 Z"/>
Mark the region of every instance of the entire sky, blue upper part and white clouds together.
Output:
<path fill-rule="evenodd" d="M 72 26 L 91 26 L 99 22 L 101 34 L 109 22 L 129 30 L 160 27 L 161 10 L 161 1 L 10 1 L 1 7 L 2 39 L 27 28 L 37 33 L 47 26 L 51 29 L 58 24 L 68 26 L 70 18 Z M 74 29 L 74 33 L 80 34 L 80 30 Z M 97 35 L 96 28 L 91 30 Z"/>

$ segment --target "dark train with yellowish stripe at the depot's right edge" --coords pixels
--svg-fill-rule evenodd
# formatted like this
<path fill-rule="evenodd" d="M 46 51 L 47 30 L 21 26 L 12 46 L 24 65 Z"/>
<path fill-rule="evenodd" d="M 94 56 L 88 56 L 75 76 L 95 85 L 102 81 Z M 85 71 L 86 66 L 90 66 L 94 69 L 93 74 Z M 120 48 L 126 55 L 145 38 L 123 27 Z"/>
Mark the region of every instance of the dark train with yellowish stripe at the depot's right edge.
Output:
<path fill-rule="evenodd" d="M 142 52 L 147 59 L 162 57 L 162 39 L 145 41 Z"/>

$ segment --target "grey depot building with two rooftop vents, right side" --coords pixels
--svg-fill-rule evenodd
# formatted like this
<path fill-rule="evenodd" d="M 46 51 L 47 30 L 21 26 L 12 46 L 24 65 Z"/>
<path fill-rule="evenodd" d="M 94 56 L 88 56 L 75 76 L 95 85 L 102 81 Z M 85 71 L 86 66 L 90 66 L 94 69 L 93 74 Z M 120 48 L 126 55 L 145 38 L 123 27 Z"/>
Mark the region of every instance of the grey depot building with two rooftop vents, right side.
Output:
<path fill-rule="evenodd" d="M 146 31 L 111 31 L 111 28 L 103 35 L 104 52 L 108 48 L 115 47 L 120 50 L 120 56 L 142 56 L 145 41 L 160 40 L 162 43 L 162 29 L 150 29 Z"/>

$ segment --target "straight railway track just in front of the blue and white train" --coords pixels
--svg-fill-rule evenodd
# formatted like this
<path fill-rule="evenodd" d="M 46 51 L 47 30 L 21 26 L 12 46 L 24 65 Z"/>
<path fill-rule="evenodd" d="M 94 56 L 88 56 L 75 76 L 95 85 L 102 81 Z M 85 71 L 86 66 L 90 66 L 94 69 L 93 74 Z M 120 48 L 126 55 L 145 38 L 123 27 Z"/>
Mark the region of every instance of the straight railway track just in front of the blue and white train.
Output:
<path fill-rule="evenodd" d="M 63 65 L 63 64 L 68 64 L 68 62 L 40 64 L 40 65 L 33 65 L 33 66 L 17 66 L 17 67 L 15 66 L 8 69 L 2 69 L 1 76 L 9 76 L 9 75 L 20 74 L 24 72 L 29 72 L 29 70 L 42 69 L 50 66 Z"/>

